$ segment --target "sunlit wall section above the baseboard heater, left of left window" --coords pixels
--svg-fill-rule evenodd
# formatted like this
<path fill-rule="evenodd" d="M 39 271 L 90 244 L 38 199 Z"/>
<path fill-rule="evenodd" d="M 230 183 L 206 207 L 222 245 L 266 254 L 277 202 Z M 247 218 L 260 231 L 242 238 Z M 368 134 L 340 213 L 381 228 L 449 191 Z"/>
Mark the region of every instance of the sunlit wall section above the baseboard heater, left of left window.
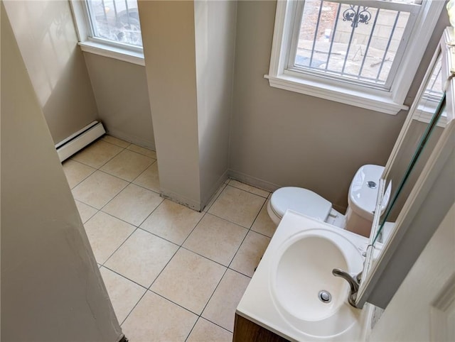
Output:
<path fill-rule="evenodd" d="M 68 1 L 4 1 L 54 143 L 97 118 Z"/>

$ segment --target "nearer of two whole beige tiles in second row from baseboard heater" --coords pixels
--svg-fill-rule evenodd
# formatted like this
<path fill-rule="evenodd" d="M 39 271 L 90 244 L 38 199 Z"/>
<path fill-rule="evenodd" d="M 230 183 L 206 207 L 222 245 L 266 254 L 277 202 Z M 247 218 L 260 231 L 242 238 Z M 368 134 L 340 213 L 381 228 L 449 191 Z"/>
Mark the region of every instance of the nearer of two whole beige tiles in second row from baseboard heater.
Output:
<path fill-rule="evenodd" d="M 73 196 L 80 202 L 101 209 L 127 185 L 124 180 L 95 171 L 73 189 Z"/>

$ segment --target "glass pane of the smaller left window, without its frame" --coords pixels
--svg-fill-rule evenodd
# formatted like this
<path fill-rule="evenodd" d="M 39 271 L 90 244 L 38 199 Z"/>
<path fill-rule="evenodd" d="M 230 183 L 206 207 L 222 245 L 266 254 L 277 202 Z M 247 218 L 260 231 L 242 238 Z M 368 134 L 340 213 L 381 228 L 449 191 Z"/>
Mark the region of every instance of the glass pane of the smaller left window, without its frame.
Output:
<path fill-rule="evenodd" d="M 93 35 L 142 47 L 136 0 L 87 0 Z"/>

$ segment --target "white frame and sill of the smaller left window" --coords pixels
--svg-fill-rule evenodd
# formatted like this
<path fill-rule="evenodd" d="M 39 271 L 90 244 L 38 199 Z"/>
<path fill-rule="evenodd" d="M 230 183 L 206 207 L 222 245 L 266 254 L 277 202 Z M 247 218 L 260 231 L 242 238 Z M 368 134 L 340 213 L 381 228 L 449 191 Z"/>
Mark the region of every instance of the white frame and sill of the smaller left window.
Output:
<path fill-rule="evenodd" d="M 73 10 L 77 38 L 82 51 L 136 65 L 145 65 L 144 50 L 142 48 L 90 36 L 90 19 L 88 18 L 85 0 L 70 0 L 70 4 Z"/>

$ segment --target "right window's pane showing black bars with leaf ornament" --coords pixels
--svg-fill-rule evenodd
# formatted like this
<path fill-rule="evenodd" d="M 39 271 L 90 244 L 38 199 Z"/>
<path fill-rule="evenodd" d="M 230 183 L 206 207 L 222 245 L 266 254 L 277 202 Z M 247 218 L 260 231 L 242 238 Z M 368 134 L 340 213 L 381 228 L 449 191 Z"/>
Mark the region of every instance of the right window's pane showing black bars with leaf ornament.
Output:
<path fill-rule="evenodd" d="M 409 16 L 306 0 L 294 66 L 384 86 Z"/>

